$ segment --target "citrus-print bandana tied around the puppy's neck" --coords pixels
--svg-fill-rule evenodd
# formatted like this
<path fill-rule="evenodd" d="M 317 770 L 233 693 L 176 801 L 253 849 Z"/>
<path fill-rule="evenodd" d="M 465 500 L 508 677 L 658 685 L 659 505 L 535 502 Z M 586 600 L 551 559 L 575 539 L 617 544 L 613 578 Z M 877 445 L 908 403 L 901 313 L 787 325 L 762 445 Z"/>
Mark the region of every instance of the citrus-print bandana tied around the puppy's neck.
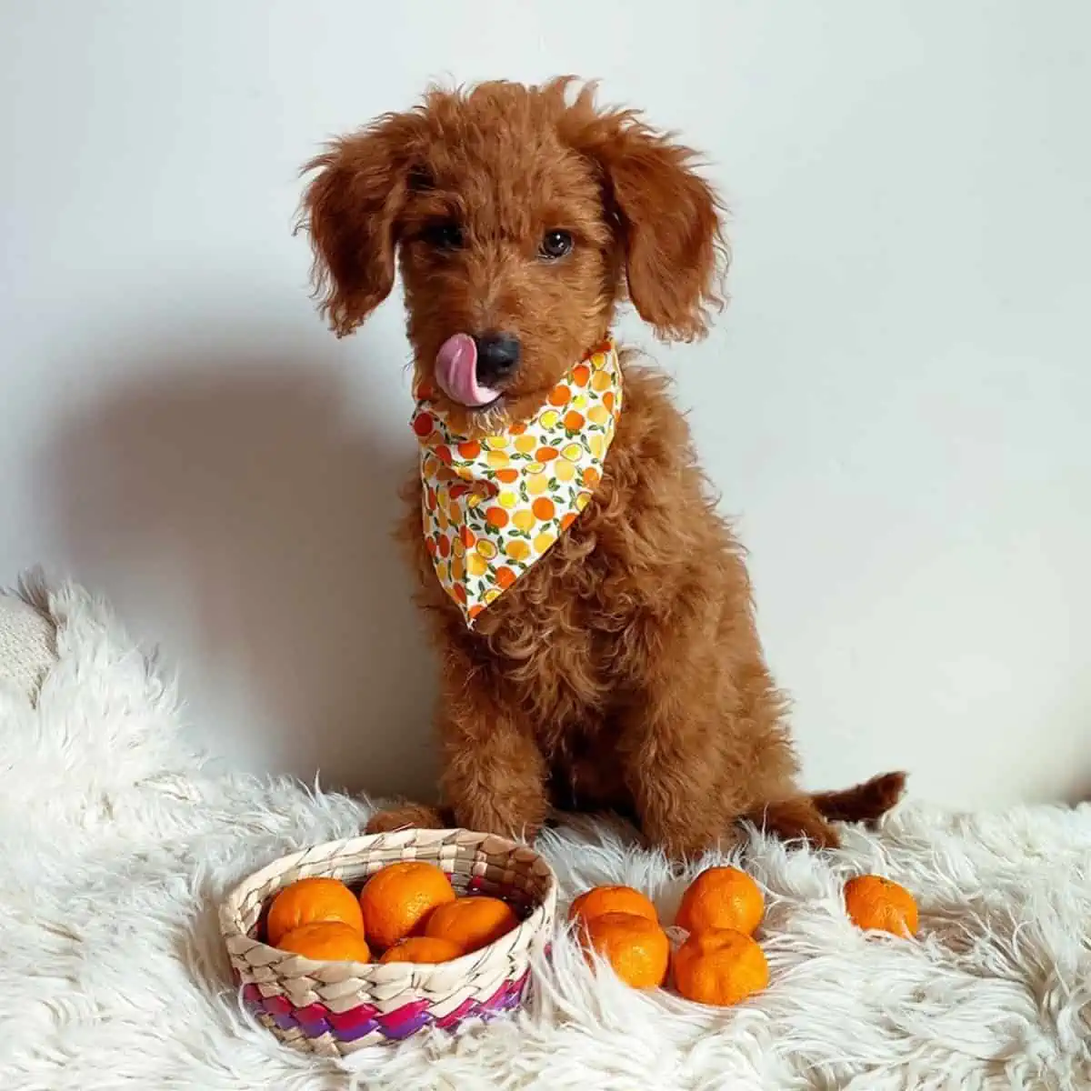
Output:
<path fill-rule="evenodd" d="M 590 503 L 621 401 L 613 341 L 574 364 L 530 420 L 494 435 L 459 435 L 418 392 L 424 543 L 468 626 Z"/>

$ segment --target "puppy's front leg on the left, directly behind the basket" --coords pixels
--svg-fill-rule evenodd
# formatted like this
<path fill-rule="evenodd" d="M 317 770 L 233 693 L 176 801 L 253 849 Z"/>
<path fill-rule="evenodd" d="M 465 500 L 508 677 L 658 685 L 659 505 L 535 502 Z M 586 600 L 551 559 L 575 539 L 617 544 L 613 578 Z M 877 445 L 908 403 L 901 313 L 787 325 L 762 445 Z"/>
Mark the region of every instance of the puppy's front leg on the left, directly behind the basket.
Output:
<path fill-rule="evenodd" d="M 546 820 L 546 762 L 527 726 L 480 691 L 445 695 L 442 789 L 459 826 L 532 841 Z"/>

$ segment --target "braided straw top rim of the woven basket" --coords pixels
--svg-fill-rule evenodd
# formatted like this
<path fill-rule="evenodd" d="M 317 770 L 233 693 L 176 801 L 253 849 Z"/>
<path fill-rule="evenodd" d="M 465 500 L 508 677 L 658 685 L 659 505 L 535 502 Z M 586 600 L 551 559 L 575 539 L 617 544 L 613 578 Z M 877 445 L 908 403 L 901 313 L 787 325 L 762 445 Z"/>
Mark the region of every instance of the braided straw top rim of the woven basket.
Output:
<path fill-rule="evenodd" d="M 509 838 L 500 837 L 495 834 L 484 834 L 479 830 L 466 829 L 461 826 L 453 826 L 444 829 L 425 829 L 424 827 L 415 826 L 407 829 L 394 830 L 387 834 L 359 834 L 355 837 L 340 837 L 334 838 L 329 841 L 320 841 L 314 844 L 307 846 L 305 848 L 297 849 L 293 852 L 286 853 L 283 856 L 277 856 L 275 860 L 271 860 L 268 863 L 252 872 L 245 878 L 241 879 L 233 887 L 231 887 L 231 889 L 220 900 L 218 915 L 223 938 L 226 942 L 236 938 L 243 938 L 264 948 L 265 950 L 280 951 L 283 954 L 281 948 L 274 947 L 271 944 L 265 943 L 263 939 L 254 939 L 242 928 L 241 902 L 245 895 L 254 886 L 260 886 L 268 878 L 276 877 L 280 873 L 289 870 L 293 864 L 316 851 L 327 849 L 332 850 L 335 847 L 345 847 L 348 844 L 351 844 L 355 848 L 358 847 L 360 851 L 363 851 L 374 842 L 392 847 L 397 847 L 399 843 L 411 844 L 417 839 L 416 836 L 419 834 L 431 835 L 436 841 L 442 841 L 444 837 L 457 836 L 459 834 L 470 835 L 470 837 L 478 839 L 479 844 L 488 840 L 492 842 L 496 849 L 502 851 L 506 850 L 508 852 L 514 852 L 516 850 L 520 850 L 525 853 L 529 853 L 532 858 L 532 862 L 540 864 L 544 868 L 543 878 L 546 880 L 546 891 L 529 915 L 519 921 L 512 932 L 521 933 L 524 936 L 529 937 L 543 931 L 548 926 L 551 907 L 555 911 L 559 882 L 556 873 L 553 871 L 549 861 L 546 860 L 540 852 L 525 842 L 513 841 Z M 397 861 L 393 862 L 396 863 Z M 509 932 L 506 935 L 509 937 L 512 933 Z M 423 978 L 428 978 L 432 972 L 449 973 L 453 967 L 458 967 L 460 963 L 465 963 L 468 969 L 472 962 L 488 958 L 492 949 L 497 944 L 503 943 L 504 938 L 505 937 L 494 939 L 491 944 L 485 944 L 484 947 L 467 951 L 465 955 L 459 955 L 457 958 L 448 959 L 445 962 L 380 962 L 377 959 L 371 962 L 358 962 L 355 959 L 311 959 L 307 958 L 304 955 L 295 955 L 292 956 L 292 963 L 298 966 L 301 970 L 308 972 L 315 972 L 322 967 L 329 966 L 359 967 L 364 969 L 371 975 L 371 979 L 375 984 L 394 984 L 401 980 L 405 980 L 406 982 L 410 979 L 420 981 Z"/>

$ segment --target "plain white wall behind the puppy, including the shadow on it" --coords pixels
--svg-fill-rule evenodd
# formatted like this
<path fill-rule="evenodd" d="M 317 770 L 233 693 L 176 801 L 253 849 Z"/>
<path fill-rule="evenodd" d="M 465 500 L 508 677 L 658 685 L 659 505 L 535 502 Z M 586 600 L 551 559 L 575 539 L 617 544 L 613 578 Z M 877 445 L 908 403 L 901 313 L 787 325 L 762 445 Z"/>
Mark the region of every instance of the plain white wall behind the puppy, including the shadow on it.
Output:
<path fill-rule="evenodd" d="M 568 71 L 707 149 L 734 208 L 734 303 L 660 359 L 753 551 L 808 781 L 1091 788 L 1091 5 L 2 13 L 0 580 L 45 562 L 109 596 L 214 748 L 428 786 L 432 664 L 387 540 L 401 316 L 323 329 L 296 170 L 430 77 Z"/>

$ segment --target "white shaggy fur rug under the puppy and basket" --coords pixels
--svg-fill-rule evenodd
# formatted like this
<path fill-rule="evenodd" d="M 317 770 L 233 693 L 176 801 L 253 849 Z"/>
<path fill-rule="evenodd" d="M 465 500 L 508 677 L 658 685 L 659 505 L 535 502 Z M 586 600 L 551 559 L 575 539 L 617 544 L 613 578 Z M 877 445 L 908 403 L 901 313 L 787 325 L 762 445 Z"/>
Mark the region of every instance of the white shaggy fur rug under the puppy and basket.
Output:
<path fill-rule="evenodd" d="M 40 594 L 59 663 L 36 707 L 0 682 L 4 1091 L 1091 1087 L 1087 806 L 904 807 L 828 856 L 755 837 L 772 983 L 736 1009 L 596 981 L 561 942 L 517 1017 L 345 1067 L 291 1053 L 243 1014 L 215 907 L 273 858 L 357 832 L 368 805 L 202 771 L 155 663 L 79 589 Z M 684 878 L 623 829 L 542 848 L 565 898 L 631 883 L 671 919 Z M 839 887 L 861 871 L 919 895 L 919 940 L 847 923 Z"/>

